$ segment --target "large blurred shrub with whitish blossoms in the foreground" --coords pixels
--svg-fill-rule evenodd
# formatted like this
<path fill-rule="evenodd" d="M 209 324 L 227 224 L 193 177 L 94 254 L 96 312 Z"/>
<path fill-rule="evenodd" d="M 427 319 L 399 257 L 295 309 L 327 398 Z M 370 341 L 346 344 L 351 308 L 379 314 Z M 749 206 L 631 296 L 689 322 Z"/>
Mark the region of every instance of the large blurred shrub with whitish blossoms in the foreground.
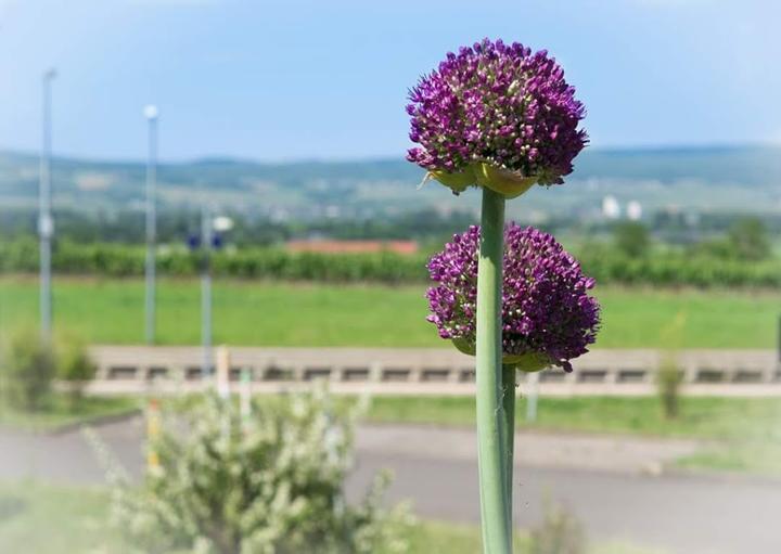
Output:
<path fill-rule="evenodd" d="M 264 399 L 249 416 L 207 396 L 164 412 L 140 488 L 116 488 L 113 518 L 140 552 L 404 552 L 408 516 L 386 511 L 386 480 L 348 504 L 354 415 L 324 394 Z"/>

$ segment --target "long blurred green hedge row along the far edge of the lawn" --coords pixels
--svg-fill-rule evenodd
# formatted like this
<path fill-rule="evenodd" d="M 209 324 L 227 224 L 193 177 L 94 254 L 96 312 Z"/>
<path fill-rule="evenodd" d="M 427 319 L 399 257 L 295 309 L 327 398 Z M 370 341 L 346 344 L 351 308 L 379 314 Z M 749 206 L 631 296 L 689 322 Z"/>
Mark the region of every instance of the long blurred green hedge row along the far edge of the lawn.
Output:
<path fill-rule="evenodd" d="M 600 283 L 660 286 L 781 286 L 781 261 L 760 262 L 687 256 L 679 252 L 629 258 L 610 248 L 587 248 L 578 256 L 584 269 Z M 426 256 L 379 254 L 292 254 L 280 248 L 220 250 L 213 257 L 217 275 L 243 279 L 322 282 L 424 282 Z M 61 274 L 142 275 L 142 246 L 116 244 L 55 244 L 54 270 Z M 159 248 L 157 270 L 165 275 L 196 275 L 199 257 L 183 248 Z M 38 245 L 33 239 L 0 242 L 0 272 L 38 270 Z"/>

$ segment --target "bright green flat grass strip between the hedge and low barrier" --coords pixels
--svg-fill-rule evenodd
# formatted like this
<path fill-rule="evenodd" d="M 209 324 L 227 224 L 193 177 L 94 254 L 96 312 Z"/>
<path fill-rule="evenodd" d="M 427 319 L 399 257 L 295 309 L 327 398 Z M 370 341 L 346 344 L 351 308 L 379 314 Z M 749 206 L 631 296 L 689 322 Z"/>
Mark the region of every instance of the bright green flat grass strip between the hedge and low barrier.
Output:
<path fill-rule="evenodd" d="M 424 285 L 325 285 L 217 281 L 217 343 L 268 346 L 441 347 L 425 321 Z M 197 280 L 158 282 L 161 344 L 197 344 Z M 603 328 L 597 348 L 773 348 L 781 292 L 670 291 L 598 287 Z M 35 324 L 38 285 L 29 276 L 0 278 L 0 330 Z M 678 314 L 682 331 L 664 344 Z M 60 278 L 55 326 L 92 343 L 143 339 L 143 282 Z"/>

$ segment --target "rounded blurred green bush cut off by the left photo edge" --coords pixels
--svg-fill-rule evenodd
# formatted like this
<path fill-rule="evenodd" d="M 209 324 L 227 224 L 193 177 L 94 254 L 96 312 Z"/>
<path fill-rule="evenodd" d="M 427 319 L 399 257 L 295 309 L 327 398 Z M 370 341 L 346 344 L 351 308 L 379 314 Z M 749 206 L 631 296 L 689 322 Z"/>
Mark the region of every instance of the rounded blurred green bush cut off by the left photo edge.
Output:
<path fill-rule="evenodd" d="M 2 396 L 12 408 L 39 410 L 56 373 L 54 352 L 34 330 L 15 332 L 4 345 Z"/>

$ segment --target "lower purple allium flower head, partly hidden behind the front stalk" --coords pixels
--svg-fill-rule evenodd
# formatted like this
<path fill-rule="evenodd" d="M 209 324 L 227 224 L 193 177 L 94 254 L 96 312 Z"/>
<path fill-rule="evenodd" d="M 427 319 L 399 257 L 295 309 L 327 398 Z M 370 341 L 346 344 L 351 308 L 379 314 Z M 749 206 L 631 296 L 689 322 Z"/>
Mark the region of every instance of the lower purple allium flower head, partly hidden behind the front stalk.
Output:
<path fill-rule="evenodd" d="M 453 236 L 428 261 L 436 283 L 426 294 L 439 336 L 474 351 L 479 227 Z M 502 350 L 505 362 L 536 360 L 561 365 L 587 352 L 599 330 L 599 304 L 588 295 L 594 280 L 553 236 L 510 223 L 504 229 Z"/>

